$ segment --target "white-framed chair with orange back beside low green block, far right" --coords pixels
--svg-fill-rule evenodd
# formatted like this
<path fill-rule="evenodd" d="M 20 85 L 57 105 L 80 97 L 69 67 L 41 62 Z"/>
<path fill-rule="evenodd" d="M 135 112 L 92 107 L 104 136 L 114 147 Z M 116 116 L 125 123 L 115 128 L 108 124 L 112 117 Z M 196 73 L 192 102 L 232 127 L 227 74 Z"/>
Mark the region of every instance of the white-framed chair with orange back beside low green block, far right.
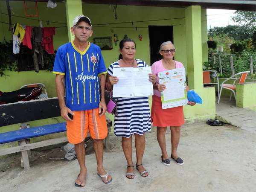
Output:
<path fill-rule="evenodd" d="M 224 89 L 227 89 L 227 90 L 231 90 L 231 93 L 230 93 L 230 99 L 229 99 L 229 102 L 231 101 L 231 97 L 232 97 L 232 94 L 234 93 L 234 97 L 236 99 L 236 81 L 238 81 L 238 83 L 244 83 L 248 73 L 250 73 L 250 71 L 243 71 L 243 72 L 239 72 L 239 73 L 236 73 L 235 75 L 231 76 L 230 78 L 226 79 L 225 81 L 222 82 L 222 84 L 220 85 L 221 87 L 221 90 L 220 90 L 220 95 L 219 95 L 219 98 L 218 98 L 218 104 L 220 102 L 220 99 L 221 99 L 221 91 L 222 91 L 222 88 Z M 236 76 L 239 76 L 239 78 L 235 79 L 235 81 L 233 82 L 233 84 L 225 84 L 226 81 L 236 77 Z"/>

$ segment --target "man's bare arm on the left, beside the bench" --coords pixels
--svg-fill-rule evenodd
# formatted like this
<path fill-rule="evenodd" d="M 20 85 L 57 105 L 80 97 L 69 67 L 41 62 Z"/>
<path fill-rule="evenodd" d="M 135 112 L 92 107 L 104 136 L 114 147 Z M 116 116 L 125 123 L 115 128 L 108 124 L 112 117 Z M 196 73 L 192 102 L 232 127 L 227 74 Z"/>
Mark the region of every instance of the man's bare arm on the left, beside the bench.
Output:
<path fill-rule="evenodd" d="M 61 116 L 63 119 L 71 121 L 71 119 L 69 118 L 67 113 L 73 114 L 73 112 L 70 110 L 70 108 L 67 108 L 67 106 L 65 104 L 64 80 L 65 80 L 65 76 L 56 74 L 55 83 L 56 83 L 58 102 L 59 102 L 59 105 L 61 108 Z"/>

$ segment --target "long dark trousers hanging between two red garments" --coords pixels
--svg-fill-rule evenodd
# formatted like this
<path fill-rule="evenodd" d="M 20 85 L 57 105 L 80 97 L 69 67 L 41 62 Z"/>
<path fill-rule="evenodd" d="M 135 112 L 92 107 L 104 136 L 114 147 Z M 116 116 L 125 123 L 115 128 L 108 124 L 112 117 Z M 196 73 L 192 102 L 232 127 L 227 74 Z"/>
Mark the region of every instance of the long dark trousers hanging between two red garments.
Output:
<path fill-rule="evenodd" d="M 39 64 L 41 67 L 44 67 L 44 56 L 43 56 L 43 47 L 41 46 L 43 37 L 42 37 L 42 28 L 34 27 L 32 29 L 32 45 L 33 45 L 33 61 L 35 65 L 35 72 L 39 72 Z"/>

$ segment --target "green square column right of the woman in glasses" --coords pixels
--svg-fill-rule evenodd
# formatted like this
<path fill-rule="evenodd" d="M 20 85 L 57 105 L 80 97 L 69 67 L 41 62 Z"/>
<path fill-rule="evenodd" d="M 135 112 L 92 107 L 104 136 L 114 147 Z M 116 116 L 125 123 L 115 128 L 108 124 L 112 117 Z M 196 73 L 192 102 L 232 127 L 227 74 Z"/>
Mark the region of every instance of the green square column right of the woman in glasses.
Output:
<path fill-rule="evenodd" d="M 185 17 L 188 85 L 198 90 L 203 88 L 201 7 L 186 7 Z"/>

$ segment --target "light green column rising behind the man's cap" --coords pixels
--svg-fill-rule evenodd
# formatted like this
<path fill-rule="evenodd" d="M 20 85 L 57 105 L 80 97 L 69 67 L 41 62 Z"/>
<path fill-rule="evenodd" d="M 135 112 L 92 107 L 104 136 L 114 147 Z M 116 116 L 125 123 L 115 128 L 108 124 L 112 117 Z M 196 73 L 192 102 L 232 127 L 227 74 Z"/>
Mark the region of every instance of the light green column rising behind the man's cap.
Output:
<path fill-rule="evenodd" d="M 83 15 L 82 1 L 81 0 L 66 0 L 66 15 L 67 15 L 67 32 L 68 40 L 73 41 L 70 28 L 73 27 L 73 20 L 78 15 Z"/>

